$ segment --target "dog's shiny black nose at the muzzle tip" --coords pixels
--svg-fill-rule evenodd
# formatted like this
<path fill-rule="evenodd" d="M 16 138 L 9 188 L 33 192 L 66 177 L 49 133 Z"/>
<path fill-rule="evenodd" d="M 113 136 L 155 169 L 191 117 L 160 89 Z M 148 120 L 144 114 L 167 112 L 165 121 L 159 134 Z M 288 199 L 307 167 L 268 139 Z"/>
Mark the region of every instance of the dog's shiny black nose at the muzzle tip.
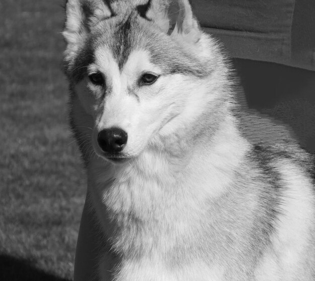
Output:
<path fill-rule="evenodd" d="M 117 153 L 123 150 L 127 144 L 128 135 L 124 130 L 112 127 L 101 130 L 97 137 L 102 151 L 107 153 Z"/>

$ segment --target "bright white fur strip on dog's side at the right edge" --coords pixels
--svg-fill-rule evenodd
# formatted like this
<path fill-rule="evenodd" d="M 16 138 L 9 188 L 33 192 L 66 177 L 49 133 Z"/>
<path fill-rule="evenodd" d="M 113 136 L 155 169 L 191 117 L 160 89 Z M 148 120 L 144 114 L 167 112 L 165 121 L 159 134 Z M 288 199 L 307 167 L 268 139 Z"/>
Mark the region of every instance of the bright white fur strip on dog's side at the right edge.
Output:
<path fill-rule="evenodd" d="M 311 180 L 297 165 L 288 160 L 274 163 L 286 189 L 278 218 L 277 231 L 272 245 L 257 269 L 258 280 L 308 280 L 303 272 L 303 260 L 307 255 L 314 230 L 314 195 Z"/>

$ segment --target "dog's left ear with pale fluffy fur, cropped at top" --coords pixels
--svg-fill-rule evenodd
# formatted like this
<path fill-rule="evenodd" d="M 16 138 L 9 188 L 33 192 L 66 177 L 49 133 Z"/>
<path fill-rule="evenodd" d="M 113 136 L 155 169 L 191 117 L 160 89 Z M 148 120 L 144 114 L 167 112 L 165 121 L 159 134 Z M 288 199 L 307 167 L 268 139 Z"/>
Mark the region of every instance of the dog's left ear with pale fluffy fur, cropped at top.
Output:
<path fill-rule="evenodd" d="M 106 0 L 67 0 L 62 35 L 68 45 L 77 44 L 99 21 L 110 18 Z"/>

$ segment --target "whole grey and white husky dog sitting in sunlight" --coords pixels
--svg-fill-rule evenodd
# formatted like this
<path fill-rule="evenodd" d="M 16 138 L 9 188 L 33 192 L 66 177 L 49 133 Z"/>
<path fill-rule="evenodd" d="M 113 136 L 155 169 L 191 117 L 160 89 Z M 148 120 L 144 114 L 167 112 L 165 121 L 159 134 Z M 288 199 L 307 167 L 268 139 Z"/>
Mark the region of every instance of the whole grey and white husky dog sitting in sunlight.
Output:
<path fill-rule="evenodd" d="M 96 279 L 315 280 L 312 159 L 240 109 L 188 0 L 68 0 L 63 36 Z"/>

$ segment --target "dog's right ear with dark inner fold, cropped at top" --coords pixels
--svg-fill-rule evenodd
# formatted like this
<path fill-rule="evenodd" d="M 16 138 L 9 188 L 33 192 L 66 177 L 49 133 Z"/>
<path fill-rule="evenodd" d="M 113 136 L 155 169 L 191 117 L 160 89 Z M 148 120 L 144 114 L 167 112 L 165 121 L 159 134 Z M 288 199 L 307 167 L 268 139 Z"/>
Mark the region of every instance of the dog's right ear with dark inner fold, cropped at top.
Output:
<path fill-rule="evenodd" d="M 146 19 L 155 22 L 168 35 L 180 37 L 188 43 L 199 41 L 201 31 L 189 0 L 149 0 L 146 8 L 142 8 L 142 14 L 143 11 Z"/>

